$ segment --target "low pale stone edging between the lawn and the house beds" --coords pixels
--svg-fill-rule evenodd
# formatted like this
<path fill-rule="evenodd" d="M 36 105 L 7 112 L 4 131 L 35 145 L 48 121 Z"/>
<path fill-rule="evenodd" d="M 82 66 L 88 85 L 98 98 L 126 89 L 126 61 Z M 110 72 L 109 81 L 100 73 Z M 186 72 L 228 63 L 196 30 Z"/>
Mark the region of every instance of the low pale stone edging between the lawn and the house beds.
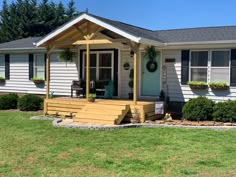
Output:
<path fill-rule="evenodd" d="M 52 120 L 54 127 L 78 128 L 82 130 L 117 130 L 124 128 L 185 128 L 185 129 L 210 129 L 210 130 L 236 130 L 236 126 L 188 126 L 188 125 L 164 125 L 164 124 L 123 124 L 123 125 L 86 125 L 86 124 L 60 124 L 63 119 L 55 117 L 34 116 L 31 120 Z"/>

